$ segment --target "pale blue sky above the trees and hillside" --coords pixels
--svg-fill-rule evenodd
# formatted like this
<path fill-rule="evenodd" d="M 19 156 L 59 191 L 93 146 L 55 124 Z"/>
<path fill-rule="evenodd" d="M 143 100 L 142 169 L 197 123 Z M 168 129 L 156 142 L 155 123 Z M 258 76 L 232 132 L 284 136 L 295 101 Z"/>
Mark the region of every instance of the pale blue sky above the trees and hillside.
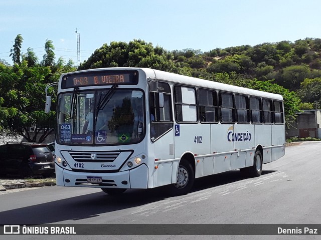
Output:
<path fill-rule="evenodd" d="M 46 40 L 56 60 L 77 64 L 103 44 L 134 39 L 168 51 L 255 46 L 321 38 L 319 0 L 0 0 L 0 59 L 21 34 L 22 53 L 32 48 L 39 61 Z"/>

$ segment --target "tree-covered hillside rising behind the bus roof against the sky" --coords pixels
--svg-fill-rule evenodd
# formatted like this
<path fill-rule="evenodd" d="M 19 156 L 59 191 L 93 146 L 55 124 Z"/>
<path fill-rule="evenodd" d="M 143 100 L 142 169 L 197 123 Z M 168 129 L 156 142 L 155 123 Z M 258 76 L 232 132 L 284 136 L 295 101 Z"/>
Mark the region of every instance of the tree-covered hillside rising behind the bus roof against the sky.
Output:
<path fill-rule="evenodd" d="M 321 104 L 321 39 L 216 48 L 204 53 L 194 49 L 167 51 L 142 40 L 111 42 L 78 69 L 102 67 L 147 67 L 234 85 L 269 81 L 296 92 L 305 103 L 303 108 Z"/>

